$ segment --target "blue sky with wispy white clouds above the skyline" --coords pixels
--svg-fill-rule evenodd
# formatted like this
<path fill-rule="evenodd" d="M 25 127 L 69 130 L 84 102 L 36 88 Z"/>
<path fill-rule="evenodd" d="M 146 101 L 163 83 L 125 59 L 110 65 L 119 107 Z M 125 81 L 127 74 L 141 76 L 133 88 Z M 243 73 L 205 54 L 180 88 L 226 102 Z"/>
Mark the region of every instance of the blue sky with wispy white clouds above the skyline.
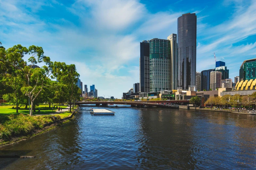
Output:
<path fill-rule="evenodd" d="M 121 98 L 139 82 L 140 42 L 177 34 L 188 12 L 197 15 L 196 71 L 215 68 L 215 53 L 234 79 L 256 58 L 255 0 L 0 0 L 0 41 L 41 46 L 52 61 L 75 64 L 98 96 Z"/>

